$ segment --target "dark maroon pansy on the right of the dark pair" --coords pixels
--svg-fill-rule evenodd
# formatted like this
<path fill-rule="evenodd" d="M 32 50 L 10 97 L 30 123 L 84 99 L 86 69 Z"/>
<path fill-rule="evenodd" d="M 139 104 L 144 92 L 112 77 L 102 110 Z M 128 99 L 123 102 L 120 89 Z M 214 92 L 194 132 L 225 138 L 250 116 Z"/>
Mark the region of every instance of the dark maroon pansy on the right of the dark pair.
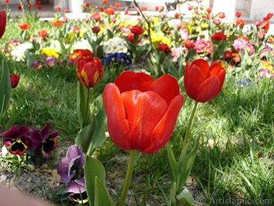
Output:
<path fill-rule="evenodd" d="M 49 157 L 51 156 L 51 151 L 57 148 L 58 141 L 55 137 L 57 137 L 59 131 L 54 131 L 49 134 L 49 128 L 51 128 L 51 124 L 47 123 L 42 130 L 32 129 L 30 139 L 32 139 L 35 155 L 38 155 L 40 150 L 42 150 L 42 155 Z"/>

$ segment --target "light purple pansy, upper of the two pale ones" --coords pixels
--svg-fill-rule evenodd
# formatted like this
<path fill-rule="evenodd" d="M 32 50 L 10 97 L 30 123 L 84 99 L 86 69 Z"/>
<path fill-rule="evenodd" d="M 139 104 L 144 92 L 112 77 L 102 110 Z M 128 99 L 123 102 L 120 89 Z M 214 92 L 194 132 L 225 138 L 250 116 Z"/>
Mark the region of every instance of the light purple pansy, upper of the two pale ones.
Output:
<path fill-rule="evenodd" d="M 74 176 L 82 178 L 84 176 L 85 153 L 78 146 L 71 146 L 66 152 L 66 158 L 57 167 L 57 173 L 61 176 L 60 181 L 69 183 Z"/>

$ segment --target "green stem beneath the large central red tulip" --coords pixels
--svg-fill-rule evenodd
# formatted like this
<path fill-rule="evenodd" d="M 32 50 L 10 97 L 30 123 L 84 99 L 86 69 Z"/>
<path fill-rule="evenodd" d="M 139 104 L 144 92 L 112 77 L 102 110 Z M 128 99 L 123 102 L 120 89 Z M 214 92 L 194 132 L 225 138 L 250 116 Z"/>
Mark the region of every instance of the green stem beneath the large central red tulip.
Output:
<path fill-rule="evenodd" d="M 127 198 L 129 183 L 130 183 L 130 180 L 132 179 L 132 171 L 134 166 L 135 155 L 136 155 L 136 150 L 131 150 L 129 155 L 128 165 L 127 165 L 127 174 L 125 174 L 125 181 L 123 183 L 123 190 L 122 190 L 119 206 L 125 205 L 125 199 Z"/>

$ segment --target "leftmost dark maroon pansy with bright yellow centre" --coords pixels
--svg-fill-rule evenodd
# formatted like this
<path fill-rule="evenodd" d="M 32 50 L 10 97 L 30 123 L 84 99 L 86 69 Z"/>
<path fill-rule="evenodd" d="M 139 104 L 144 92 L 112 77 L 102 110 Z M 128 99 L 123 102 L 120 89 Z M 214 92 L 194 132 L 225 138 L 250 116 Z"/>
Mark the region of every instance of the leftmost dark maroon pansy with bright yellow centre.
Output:
<path fill-rule="evenodd" d="M 12 155 L 23 155 L 27 148 L 32 148 L 32 140 L 27 137 L 29 135 L 29 128 L 27 126 L 11 126 L 10 130 L 1 133 L 3 144 L 8 147 Z"/>

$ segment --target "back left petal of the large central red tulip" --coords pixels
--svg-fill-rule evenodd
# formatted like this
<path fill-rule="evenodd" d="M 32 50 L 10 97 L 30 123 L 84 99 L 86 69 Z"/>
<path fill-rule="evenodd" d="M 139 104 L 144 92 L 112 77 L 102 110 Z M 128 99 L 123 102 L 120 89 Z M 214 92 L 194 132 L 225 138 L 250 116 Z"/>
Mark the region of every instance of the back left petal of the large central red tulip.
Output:
<path fill-rule="evenodd" d="M 153 78 L 147 73 L 134 71 L 123 71 L 115 80 L 115 84 L 119 87 L 121 93 L 134 89 L 142 92 L 147 91 L 147 88 L 152 82 Z"/>

